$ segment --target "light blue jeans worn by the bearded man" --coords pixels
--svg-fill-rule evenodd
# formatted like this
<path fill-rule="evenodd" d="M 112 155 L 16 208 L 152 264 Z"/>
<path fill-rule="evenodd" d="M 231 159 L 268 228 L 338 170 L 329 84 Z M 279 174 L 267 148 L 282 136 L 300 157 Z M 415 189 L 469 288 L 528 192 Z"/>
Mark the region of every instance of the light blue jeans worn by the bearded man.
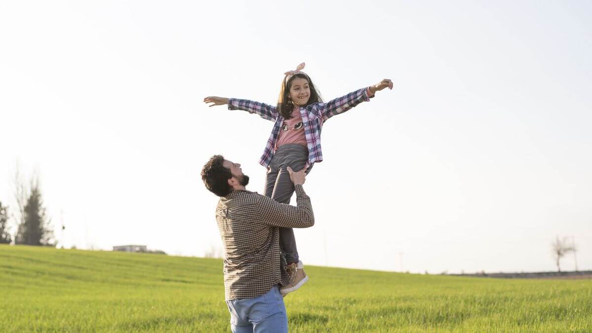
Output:
<path fill-rule="evenodd" d="M 276 284 L 269 292 L 253 298 L 227 300 L 230 329 L 243 332 L 288 332 L 284 297 Z"/>

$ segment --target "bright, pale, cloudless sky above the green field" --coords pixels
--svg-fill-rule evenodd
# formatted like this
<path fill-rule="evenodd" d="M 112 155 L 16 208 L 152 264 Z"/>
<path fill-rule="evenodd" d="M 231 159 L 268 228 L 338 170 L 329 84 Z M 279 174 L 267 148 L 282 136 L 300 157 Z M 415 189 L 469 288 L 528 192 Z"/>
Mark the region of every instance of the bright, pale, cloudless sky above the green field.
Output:
<path fill-rule="evenodd" d="M 202 99 L 275 104 L 306 62 L 325 100 L 394 89 L 323 127 L 305 264 L 555 270 L 573 236 L 592 269 L 592 3 L 334 4 L 2 1 L 0 201 L 18 161 L 66 247 L 220 248 L 201 167 L 221 153 L 261 193 L 273 123 Z"/>

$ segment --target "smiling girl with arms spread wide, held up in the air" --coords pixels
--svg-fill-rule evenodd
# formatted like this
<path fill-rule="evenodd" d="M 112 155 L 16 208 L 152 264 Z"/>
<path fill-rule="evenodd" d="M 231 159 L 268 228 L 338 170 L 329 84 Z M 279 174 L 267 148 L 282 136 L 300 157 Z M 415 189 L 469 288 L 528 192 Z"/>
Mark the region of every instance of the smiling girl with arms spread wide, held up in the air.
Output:
<path fill-rule="evenodd" d="M 286 204 L 289 204 L 294 193 L 294 184 L 290 181 L 287 167 L 294 171 L 305 168 L 308 174 L 315 162 L 323 161 L 320 135 L 324 122 L 363 101 L 369 101 L 377 91 L 387 87 L 392 89 L 391 80 L 384 79 L 371 87 L 323 103 L 313 81 L 302 72 L 303 69 L 304 63 L 301 63 L 295 71 L 284 73 L 276 106 L 236 98 L 204 98 L 210 107 L 228 104 L 229 110 L 244 110 L 274 121 L 271 136 L 259 160 L 268 169 L 263 195 Z M 279 239 L 287 261 L 286 269 L 292 277 L 291 283 L 280 289 L 285 296 L 300 288 L 308 277 L 298 258 L 293 230 L 279 228 Z"/>

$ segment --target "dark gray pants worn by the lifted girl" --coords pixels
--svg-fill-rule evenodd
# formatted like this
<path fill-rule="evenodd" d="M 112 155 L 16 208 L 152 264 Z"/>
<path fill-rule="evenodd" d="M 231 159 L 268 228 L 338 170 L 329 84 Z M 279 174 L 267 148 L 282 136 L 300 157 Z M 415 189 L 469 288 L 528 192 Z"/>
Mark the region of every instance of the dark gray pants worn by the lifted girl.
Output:
<path fill-rule="evenodd" d="M 281 146 L 275 152 L 271 164 L 269 164 L 263 196 L 271 197 L 279 203 L 289 204 L 290 198 L 294 194 L 294 184 L 290 180 L 287 168 L 290 167 L 294 171 L 300 171 L 304 168 L 307 160 L 308 148 L 305 146 L 298 143 Z M 312 167 L 308 168 L 307 174 L 310 169 Z M 292 228 L 279 228 L 279 245 L 288 264 L 298 262 L 298 250 L 296 249 L 296 239 Z"/>

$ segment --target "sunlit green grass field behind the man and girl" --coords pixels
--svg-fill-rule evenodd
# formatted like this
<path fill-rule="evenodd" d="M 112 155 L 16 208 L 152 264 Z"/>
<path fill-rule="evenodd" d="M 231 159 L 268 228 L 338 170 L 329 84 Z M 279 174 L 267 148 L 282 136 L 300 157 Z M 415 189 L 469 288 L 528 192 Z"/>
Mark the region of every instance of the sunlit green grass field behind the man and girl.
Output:
<path fill-rule="evenodd" d="M 307 267 L 292 332 L 592 332 L 592 280 Z M 0 332 L 228 332 L 222 261 L 0 245 Z"/>

